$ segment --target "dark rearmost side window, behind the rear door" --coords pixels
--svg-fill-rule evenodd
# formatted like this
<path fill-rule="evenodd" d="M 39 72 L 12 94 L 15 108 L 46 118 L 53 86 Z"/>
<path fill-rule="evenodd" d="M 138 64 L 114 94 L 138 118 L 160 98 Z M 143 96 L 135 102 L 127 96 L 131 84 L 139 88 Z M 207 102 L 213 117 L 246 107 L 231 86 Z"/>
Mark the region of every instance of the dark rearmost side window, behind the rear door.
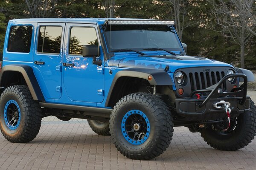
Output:
<path fill-rule="evenodd" d="M 7 51 L 29 53 L 32 31 L 32 26 L 11 26 Z"/>

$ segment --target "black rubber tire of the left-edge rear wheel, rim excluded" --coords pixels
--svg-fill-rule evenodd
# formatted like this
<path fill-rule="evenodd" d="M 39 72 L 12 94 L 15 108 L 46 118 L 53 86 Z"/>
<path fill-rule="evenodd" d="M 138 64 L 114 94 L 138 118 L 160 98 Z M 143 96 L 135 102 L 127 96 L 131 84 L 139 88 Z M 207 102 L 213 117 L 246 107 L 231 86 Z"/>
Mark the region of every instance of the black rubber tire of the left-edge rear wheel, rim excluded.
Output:
<path fill-rule="evenodd" d="M 16 101 L 20 108 L 20 124 L 15 130 L 7 127 L 3 117 L 9 100 Z M 0 130 L 9 142 L 24 143 L 35 139 L 41 127 L 41 119 L 41 109 L 38 102 L 32 99 L 27 86 L 14 85 L 3 91 L 0 96 Z"/>

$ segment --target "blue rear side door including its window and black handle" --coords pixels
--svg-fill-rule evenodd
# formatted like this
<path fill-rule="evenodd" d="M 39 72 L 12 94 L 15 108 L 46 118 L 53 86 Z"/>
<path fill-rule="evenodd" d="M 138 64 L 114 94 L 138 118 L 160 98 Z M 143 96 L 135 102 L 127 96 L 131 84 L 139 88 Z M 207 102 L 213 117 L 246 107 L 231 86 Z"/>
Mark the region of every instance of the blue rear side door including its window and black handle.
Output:
<path fill-rule="evenodd" d="M 33 70 L 47 99 L 61 98 L 64 23 L 38 23 Z"/>

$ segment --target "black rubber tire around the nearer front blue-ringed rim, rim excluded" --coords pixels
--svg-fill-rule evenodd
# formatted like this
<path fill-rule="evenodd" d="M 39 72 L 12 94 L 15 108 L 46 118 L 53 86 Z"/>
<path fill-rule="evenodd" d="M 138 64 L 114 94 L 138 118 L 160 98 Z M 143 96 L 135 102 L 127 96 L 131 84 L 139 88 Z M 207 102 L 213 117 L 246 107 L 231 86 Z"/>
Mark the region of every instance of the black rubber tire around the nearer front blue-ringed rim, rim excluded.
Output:
<path fill-rule="evenodd" d="M 132 109 L 145 113 L 150 122 L 150 134 L 143 144 L 131 144 L 122 134 L 122 117 Z M 120 153 L 130 159 L 147 160 L 159 156 L 169 146 L 173 135 L 173 118 L 171 111 L 159 97 L 148 93 L 134 93 L 116 103 L 109 127 L 113 143 Z"/>

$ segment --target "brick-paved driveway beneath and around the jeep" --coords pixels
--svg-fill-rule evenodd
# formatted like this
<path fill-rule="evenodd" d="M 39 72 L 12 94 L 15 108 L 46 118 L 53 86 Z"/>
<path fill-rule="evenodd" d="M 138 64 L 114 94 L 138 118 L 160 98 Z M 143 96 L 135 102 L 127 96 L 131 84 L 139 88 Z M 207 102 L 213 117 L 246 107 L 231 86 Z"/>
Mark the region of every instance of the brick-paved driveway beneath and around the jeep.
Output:
<path fill-rule="evenodd" d="M 256 91 L 249 91 L 256 101 Z M 98 136 L 87 121 L 43 119 L 32 142 L 14 144 L 0 136 L 0 169 L 86 170 L 256 170 L 256 139 L 235 151 L 215 150 L 200 133 L 175 127 L 173 140 L 161 156 L 137 161 L 122 156 L 109 136 Z"/>

